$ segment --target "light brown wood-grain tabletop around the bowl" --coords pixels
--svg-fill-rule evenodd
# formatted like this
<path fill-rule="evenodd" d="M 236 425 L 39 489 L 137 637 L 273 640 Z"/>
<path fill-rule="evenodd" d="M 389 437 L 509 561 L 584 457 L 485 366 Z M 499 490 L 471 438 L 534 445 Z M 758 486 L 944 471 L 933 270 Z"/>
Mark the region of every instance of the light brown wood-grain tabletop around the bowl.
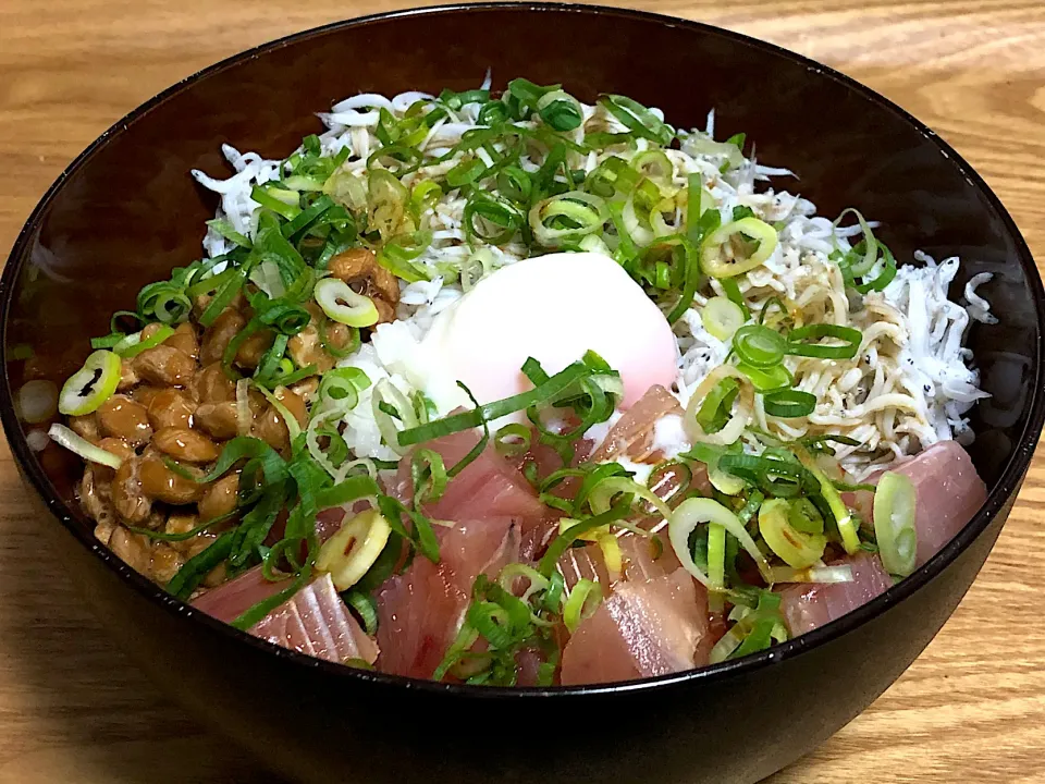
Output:
<path fill-rule="evenodd" d="M 262 41 L 408 0 L 0 0 L 0 253 L 89 142 L 155 93 Z M 638 0 L 747 33 L 888 96 L 984 175 L 1045 259 L 1041 0 Z M 773 784 L 1045 781 L 1045 455 L 936 640 Z M 0 784 L 276 782 L 198 728 L 40 552 L 0 446 Z"/>

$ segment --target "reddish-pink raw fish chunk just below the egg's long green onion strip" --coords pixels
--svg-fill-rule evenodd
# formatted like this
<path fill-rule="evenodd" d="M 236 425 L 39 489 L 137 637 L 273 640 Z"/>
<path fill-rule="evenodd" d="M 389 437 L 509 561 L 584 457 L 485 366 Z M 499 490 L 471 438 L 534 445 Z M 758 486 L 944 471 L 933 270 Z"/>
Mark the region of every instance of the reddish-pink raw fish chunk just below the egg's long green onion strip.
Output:
<path fill-rule="evenodd" d="M 479 434 L 468 430 L 429 441 L 425 449 L 438 452 L 448 470 L 478 442 Z M 389 492 L 402 501 L 413 498 L 410 455 L 399 461 Z M 499 455 L 492 445 L 450 480 L 446 491 L 437 503 L 425 505 L 425 513 L 434 519 L 512 516 L 517 517 L 524 528 L 542 519 L 545 512 L 526 477 Z"/>

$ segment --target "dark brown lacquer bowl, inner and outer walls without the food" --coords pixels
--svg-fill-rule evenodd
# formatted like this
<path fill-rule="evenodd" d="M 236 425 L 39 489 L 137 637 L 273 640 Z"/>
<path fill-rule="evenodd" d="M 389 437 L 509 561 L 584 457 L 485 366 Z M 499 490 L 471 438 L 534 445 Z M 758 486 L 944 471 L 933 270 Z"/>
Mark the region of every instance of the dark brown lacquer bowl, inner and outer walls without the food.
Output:
<path fill-rule="evenodd" d="M 200 254 L 214 198 L 188 172 L 228 170 L 223 142 L 288 155 L 314 112 L 357 91 L 495 86 L 525 75 L 661 107 L 680 126 L 717 111 L 760 160 L 799 173 L 833 216 L 883 221 L 898 258 L 922 248 L 995 273 L 995 327 L 970 345 L 995 397 L 972 416 L 989 498 L 913 576 L 812 634 L 698 672 L 613 686 L 502 690 L 369 674 L 298 656 L 212 621 L 99 546 L 74 500 L 81 466 L 34 454 L 12 391 L 63 379 L 138 289 Z M 158 683 L 295 779 L 453 782 L 753 782 L 850 721 L 907 667 L 980 569 L 1043 420 L 1042 283 L 1012 220 L 935 134 L 871 90 L 750 38 L 599 8 L 470 5 L 310 30 L 220 63 L 114 125 L 33 212 L 3 271 L 0 414 L 26 481 L 60 525 L 56 548 L 119 639 Z M 960 290 L 959 290 L 960 291 Z M 26 348 L 32 359 L 24 359 Z"/>

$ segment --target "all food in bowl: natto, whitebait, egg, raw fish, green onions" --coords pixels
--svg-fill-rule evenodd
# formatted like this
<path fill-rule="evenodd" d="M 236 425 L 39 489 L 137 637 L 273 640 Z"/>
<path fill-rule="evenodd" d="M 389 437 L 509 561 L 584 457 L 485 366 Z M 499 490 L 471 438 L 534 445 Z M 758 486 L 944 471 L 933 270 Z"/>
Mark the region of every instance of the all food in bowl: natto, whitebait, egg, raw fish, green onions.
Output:
<path fill-rule="evenodd" d="M 193 172 L 205 257 L 57 395 L 99 540 L 286 648 L 548 686 L 764 650 L 964 527 L 989 274 L 817 216 L 713 113 L 489 87 Z"/>

